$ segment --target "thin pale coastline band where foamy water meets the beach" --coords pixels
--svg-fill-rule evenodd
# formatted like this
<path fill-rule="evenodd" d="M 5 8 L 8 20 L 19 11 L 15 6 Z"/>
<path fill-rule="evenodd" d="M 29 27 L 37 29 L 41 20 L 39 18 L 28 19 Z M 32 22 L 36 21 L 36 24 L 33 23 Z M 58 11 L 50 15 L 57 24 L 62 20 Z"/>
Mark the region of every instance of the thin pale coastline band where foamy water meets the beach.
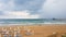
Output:
<path fill-rule="evenodd" d="M 63 24 L 55 24 L 55 23 L 46 23 L 46 24 L 0 24 L 0 26 L 54 26 L 54 25 L 66 25 L 66 23 Z"/>

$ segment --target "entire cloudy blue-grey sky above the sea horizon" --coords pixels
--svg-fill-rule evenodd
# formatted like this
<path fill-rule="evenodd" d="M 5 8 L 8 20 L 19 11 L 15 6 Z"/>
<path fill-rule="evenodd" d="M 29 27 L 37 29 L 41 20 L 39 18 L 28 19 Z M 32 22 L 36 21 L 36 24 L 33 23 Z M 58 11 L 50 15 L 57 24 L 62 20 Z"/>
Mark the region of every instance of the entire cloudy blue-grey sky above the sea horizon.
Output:
<path fill-rule="evenodd" d="M 0 18 L 66 18 L 66 0 L 0 0 Z"/>

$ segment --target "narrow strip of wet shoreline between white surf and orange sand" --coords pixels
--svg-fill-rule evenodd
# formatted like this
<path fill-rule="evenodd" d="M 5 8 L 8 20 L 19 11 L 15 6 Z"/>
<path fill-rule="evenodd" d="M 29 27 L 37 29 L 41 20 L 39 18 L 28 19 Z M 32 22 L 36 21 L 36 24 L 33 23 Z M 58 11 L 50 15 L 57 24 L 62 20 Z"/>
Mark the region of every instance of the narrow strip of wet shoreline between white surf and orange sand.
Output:
<path fill-rule="evenodd" d="M 66 26 L 66 24 L 33 24 L 33 25 L 29 25 L 29 24 L 26 24 L 26 25 L 20 25 L 20 24 L 10 24 L 10 25 L 7 25 L 7 24 L 4 24 L 4 25 L 0 25 L 0 26 L 63 26 L 63 25 L 65 25 Z"/>

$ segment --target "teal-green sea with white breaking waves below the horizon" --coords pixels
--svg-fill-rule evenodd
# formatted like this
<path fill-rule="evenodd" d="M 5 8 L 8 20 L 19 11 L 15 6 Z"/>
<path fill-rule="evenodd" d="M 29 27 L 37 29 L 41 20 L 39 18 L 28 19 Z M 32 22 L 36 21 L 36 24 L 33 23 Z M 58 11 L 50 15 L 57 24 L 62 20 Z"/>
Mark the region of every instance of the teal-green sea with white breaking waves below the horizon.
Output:
<path fill-rule="evenodd" d="M 63 18 L 0 18 L 0 26 L 6 25 L 45 25 L 66 24 Z"/>

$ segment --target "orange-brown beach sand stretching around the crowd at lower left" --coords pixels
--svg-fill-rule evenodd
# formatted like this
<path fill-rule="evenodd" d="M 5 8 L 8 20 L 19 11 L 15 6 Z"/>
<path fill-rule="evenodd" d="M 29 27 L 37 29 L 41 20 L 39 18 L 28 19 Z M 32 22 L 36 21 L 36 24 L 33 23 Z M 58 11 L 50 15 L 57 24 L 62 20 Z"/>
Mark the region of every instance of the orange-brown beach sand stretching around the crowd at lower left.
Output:
<path fill-rule="evenodd" d="M 0 26 L 0 30 L 20 30 L 22 37 L 62 37 L 66 34 L 66 24 L 48 24 L 48 25 L 12 25 L 12 26 Z M 26 35 L 26 33 L 31 33 Z M 12 33 L 12 35 L 14 35 Z"/>

